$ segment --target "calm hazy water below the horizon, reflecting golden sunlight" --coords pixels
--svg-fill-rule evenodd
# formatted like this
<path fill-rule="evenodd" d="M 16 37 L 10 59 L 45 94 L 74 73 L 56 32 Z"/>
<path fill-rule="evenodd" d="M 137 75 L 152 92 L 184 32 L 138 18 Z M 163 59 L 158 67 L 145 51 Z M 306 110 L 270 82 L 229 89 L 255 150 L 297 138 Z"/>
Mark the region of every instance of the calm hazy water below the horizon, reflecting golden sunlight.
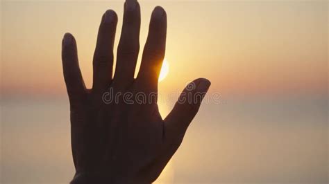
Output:
<path fill-rule="evenodd" d="M 203 104 L 158 182 L 327 183 L 327 114 L 326 96 Z M 2 183 L 68 183 L 73 174 L 67 98 L 3 100 Z"/>

